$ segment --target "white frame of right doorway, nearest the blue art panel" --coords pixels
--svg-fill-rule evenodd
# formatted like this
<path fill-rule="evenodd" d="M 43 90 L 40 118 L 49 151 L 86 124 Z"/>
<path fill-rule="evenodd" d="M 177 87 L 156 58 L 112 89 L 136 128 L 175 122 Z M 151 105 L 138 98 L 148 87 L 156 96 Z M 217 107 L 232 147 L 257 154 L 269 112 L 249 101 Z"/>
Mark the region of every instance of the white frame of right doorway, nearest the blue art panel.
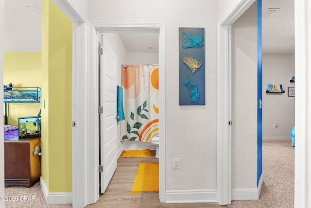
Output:
<path fill-rule="evenodd" d="M 218 22 L 217 202 L 231 204 L 231 25 L 255 2 L 236 1 Z"/>

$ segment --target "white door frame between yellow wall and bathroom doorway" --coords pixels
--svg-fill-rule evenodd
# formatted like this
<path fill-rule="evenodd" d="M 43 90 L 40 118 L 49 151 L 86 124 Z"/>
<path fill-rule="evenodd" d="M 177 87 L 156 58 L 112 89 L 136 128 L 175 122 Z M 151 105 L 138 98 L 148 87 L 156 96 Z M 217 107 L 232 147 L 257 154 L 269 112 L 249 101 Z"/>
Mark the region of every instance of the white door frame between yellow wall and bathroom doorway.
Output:
<path fill-rule="evenodd" d="M 52 2 L 72 21 L 72 207 L 86 207 L 87 174 L 87 18 L 73 2 L 52 0 Z"/>

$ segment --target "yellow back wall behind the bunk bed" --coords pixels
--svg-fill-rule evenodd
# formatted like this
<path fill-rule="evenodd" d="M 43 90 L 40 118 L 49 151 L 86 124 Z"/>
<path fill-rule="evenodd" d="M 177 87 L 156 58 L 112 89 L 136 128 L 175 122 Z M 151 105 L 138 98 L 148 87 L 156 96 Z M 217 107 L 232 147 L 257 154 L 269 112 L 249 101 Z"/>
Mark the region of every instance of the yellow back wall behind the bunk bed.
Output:
<path fill-rule="evenodd" d="M 4 85 L 41 87 L 41 82 L 41 52 L 4 52 Z M 36 116 L 39 111 L 40 104 L 7 104 L 8 124 L 18 126 L 19 117 Z"/>

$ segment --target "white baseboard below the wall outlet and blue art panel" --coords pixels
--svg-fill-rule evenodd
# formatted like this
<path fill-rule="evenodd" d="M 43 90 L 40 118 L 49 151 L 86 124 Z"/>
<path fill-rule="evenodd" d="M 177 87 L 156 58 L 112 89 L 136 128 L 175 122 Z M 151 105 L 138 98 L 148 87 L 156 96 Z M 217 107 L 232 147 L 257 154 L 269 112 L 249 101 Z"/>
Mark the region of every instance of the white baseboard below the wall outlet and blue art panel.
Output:
<path fill-rule="evenodd" d="M 165 194 L 165 203 L 216 202 L 216 190 L 175 190 Z"/>

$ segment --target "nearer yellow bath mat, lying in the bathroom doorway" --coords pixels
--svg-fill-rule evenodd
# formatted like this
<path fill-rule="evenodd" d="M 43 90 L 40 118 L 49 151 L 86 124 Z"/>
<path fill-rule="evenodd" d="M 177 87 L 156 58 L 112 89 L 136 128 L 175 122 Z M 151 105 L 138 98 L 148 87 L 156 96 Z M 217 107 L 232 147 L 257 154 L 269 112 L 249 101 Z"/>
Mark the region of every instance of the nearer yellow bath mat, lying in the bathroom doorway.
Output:
<path fill-rule="evenodd" d="M 159 163 L 139 163 L 131 195 L 159 191 Z"/>

